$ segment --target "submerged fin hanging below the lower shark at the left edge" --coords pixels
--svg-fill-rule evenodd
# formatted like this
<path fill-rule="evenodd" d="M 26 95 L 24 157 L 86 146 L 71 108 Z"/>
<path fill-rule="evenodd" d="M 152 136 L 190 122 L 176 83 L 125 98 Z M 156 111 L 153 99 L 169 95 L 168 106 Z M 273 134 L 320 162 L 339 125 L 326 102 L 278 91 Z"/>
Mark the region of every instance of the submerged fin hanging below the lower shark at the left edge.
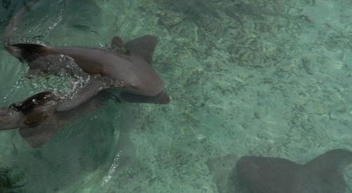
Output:
<path fill-rule="evenodd" d="M 42 147 L 50 138 L 52 138 L 60 125 L 56 121 L 46 121 L 34 128 L 20 128 L 20 135 L 33 148 Z"/>

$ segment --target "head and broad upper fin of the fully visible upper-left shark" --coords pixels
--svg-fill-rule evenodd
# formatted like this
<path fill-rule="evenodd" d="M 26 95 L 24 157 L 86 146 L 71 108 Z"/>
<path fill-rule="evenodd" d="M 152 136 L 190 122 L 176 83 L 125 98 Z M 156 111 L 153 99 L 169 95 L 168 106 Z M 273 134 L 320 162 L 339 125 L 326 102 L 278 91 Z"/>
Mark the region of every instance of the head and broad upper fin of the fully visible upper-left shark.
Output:
<path fill-rule="evenodd" d="M 122 47 L 122 40 L 118 37 L 115 37 L 112 43 L 117 47 Z M 160 97 L 161 93 L 163 93 L 163 104 L 166 104 L 166 101 L 170 99 L 164 91 L 161 77 L 156 73 L 152 65 L 153 52 L 157 44 L 158 39 L 156 36 L 151 35 L 145 35 L 123 44 L 123 48 L 127 49 L 126 55 L 129 62 L 119 70 L 119 73 L 123 73 L 119 74 L 119 77 L 123 81 L 122 91 L 147 97 L 148 99 L 145 101 L 149 102 L 151 100 L 149 97 L 157 95 Z M 126 57 L 126 55 L 121 56 Z"/>

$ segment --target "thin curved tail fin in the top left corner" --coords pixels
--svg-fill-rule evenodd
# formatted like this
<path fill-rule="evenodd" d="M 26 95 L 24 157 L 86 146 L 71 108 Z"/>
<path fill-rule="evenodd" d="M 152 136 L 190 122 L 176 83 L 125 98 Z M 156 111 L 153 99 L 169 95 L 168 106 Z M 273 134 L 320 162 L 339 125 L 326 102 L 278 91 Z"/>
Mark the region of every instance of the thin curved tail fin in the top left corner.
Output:
<path fill-rule="evenodd" d="M 13 45 L 11 45 L 11 39 L 15 31 L 20 26 L 20 19 L 23 17 L 25 12 L 30 10 L 30 8 L 32 8 L 34 4 L 37 4 L 37 2 L 38 0 L 33 0 L 33 1 L 30 1 L 30 3 L 25 4 L 25 6 L 23 6 L 23 8 L 21 8 L 20 11 L 18 11 L 18 13 L 16 13 L 15 16 L 13 16 L 13 18 L 11 18 L 10 22 L 8 22 L 8 25 L 6 26 L 4 31 L 3 44 L 4 44 L 4 47 L 6 48 L 6 51 L 8 51 L 8 53 L 11 53 L 11 55 L 15 56 L 15 58 L 18 58 L 19 60 L 23 60 L 23 59 L 20 58 L 21 55 L 20 53 L 18 53 L 18 50 L 15 47 L 13 47 Z"/>

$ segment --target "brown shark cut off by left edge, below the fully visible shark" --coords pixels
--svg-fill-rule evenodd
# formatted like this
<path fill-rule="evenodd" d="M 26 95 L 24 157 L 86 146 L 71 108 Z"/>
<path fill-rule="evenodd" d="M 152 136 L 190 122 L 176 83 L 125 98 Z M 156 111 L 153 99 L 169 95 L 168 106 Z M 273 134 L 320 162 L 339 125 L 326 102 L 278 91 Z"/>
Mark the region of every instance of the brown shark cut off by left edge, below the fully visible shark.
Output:
<path fill-rule="evenodd" d="M 93 112 L 110 98 L 115 98 L 115 95 L 101 91 L 78 106 L 73 104 L 75 108 L 62 112 L 57 110 L 61 105 L 58 96 L 51 91 L 43 91 L 8 107 L 1 107 L 0 130 L 19 128 L 21 137 L 33 148 L 39 148 L 65 124 Z M 65 105 L 69 105 L 69 102 Z"/>

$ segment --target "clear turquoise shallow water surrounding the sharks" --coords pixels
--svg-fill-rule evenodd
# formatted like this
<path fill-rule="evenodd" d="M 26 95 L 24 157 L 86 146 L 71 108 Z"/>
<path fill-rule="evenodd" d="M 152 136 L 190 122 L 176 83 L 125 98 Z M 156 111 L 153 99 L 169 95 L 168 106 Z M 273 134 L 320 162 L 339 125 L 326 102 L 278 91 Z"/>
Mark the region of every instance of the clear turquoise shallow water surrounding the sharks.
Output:
<path fill-rule="evenodd" d="M 1 32 L 22 5 L 0 8 Z M 6 191 L 241 192 L 227 178 L 244 155 L 304 164 L 352 150 L 352 1 L 40 1 L 23 22 L 15 41 L 51 46 L 158 36 L 171 102 L 108 100 L 39 149 L 1 131 L 0 168 L 20 186 Z M 0 58 L 0 106 L 70 92 L 70 79 L 27 79 L 27 65 Z M 351 192 L 352 166 L 344 179 Z"/>

